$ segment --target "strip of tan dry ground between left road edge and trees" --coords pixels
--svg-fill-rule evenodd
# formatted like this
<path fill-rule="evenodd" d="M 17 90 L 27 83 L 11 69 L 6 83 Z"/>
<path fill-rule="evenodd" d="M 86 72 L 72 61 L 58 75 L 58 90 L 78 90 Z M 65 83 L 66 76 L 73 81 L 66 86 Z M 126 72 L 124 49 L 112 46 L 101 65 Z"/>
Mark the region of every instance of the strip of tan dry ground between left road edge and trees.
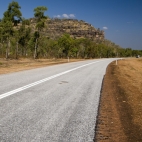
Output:
<path fill-rule="evenodd" d="M 83 59 L 70 59 L 69 62 L 83 61 Z M 0 74 L 29 70 L 54 64 L 68 63 L 68 59 L 0 59 Z"/>

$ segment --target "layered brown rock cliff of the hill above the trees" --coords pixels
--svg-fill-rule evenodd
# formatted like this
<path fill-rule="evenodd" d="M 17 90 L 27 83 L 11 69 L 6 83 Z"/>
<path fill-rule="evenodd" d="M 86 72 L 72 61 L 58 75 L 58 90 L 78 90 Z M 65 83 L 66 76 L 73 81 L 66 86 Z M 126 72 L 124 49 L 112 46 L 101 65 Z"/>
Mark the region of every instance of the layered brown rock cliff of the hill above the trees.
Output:
<path fill-rule="evenodd" d="M 30 19 L 33 29 L 35 28 L 35 20 Z M 74 38 L 89 38 L 93 41 L 103 40 L 104 31 L 99 28 L 95 29 L 91 24 L 76 19 L 48 19 L 47 27 L 42 34 L 52 39 L 58 38 L 64 33 L 68 33 Z"/>

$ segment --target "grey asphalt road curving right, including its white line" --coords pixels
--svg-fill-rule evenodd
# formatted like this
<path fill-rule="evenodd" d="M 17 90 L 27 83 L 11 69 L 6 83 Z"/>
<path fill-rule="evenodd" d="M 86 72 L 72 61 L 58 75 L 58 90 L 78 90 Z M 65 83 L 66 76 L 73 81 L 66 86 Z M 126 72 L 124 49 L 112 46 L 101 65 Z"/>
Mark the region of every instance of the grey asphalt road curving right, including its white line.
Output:
<path fill-rule="evenodd" d="M 115 59 L 0 75 L 0 142 L 91 142 L 102 79 Z"/>

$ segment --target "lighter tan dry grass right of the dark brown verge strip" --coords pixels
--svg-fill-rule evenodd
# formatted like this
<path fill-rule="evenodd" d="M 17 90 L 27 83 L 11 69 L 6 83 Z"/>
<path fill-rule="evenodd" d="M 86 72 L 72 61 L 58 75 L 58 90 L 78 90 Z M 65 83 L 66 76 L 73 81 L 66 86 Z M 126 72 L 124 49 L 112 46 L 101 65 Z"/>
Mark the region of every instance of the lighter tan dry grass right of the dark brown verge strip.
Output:
<path fill-rule="evenodd" d="M 117 76 L 131 106 L 132 121 L 142 129 L 142 59 L 127 59 L 119 64 Z"/>

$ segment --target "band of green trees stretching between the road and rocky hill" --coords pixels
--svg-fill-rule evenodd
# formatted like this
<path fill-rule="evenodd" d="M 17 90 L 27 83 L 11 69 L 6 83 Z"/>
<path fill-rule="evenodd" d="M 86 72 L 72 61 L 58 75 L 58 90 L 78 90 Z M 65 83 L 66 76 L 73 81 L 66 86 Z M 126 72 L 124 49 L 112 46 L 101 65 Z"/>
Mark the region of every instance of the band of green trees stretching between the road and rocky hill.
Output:
<path fill-rule="evenodd" d="M 64 34 L 58 39 L 51 39 L 42 34 L 47 16 L 47 7 L 34 9 L 35 30 L 31 29 L 30 20 L 22 18 L 18 2 L 11 2 L 0 20 L 0 57 L 15 58 L 110 58 L 140 55 L 142 50 L 121 48 L 109 40 L 73 38 Z"/>

